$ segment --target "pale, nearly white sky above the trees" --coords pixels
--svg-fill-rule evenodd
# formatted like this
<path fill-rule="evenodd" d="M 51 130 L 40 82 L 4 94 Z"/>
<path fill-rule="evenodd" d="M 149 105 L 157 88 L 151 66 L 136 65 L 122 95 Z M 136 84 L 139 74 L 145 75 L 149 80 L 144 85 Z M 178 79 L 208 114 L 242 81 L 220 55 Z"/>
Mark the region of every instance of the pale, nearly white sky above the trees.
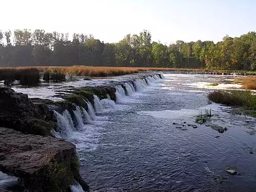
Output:
<path fill-rule="evenodd" d="M 256 31 L 255 0 L 0 0 L 0 8 L 3 31 L 77 32 L 104 42 L 143 29 L 163 44 Z"/>

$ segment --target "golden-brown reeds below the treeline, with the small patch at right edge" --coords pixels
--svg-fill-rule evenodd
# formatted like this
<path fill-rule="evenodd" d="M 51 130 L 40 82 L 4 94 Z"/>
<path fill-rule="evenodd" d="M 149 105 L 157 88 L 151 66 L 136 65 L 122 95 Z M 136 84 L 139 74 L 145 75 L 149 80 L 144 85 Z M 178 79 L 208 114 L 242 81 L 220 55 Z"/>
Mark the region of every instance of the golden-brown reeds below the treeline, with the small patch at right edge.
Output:
<path fill-rule="evenodd" d="M 89 66 L 72 66 L 72 67 L 12 67 L 0 68 L 0 80 L 6 84 L 19 80 L 20 84 L 34 86 L 39 82 L 40 75 L 44 80 L 62 81 L 74 76 L 87 77 L 110 77 L 126 74 L 139 73 L 142 71 L 187 71 L 187 72 L 231 72 L 216 71 L 209 69 L 187 69 L 187 68 L 136 68 L 136 67 L 89 67 Z M 243 71 L 234 71 L 243 73 Z M 248 78 L 248 83 L 244 86 L 246 89 L 256 89 L 255 77 Z M 246 81 L 246 82 L 247 82 Z"/>

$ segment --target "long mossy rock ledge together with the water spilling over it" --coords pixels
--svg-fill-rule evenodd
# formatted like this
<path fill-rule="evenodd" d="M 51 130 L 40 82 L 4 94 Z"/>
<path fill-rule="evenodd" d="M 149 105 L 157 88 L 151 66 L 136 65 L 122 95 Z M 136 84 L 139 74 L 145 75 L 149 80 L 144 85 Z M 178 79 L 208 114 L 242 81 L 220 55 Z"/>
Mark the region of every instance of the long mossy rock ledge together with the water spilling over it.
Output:
<path fill-rule="evenodd" d="M 62 108 L 61 102 L 55 102 L 55 108 L 52 108 L 58 125 L 55 136 L 63 139 L 69 138 L 72 132 L 82 131 L 86 124 L 95 120 L 97 114 L 114 109 L 116 104 L 124 103 L 125 97 L 130 97 L 135 92 L 151 86 L 154 81 L 163 78 L 162 74 L 157 73 L 125 79 L 122 82 L 113 83 L 112 86 L 74 88 L 71 93 L 62 96 L 64 99 L 69 98 L 68 101 L 62 103 L 69 102 L 69 106 L 72 104 L 72 107 Z"/>

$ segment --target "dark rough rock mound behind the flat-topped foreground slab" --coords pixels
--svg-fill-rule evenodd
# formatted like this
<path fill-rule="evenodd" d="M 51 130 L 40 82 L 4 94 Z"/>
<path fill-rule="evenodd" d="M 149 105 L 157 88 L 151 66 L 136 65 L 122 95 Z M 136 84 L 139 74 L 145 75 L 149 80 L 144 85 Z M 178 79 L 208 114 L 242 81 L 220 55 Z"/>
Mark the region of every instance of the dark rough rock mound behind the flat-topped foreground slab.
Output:
<path fill-rule="evenodd" d="M 27 94 L 1 87 L 0 109 L 0 126 L 35 135 L 51 135 L 56 129 L 48 106 L 34 104 Z"/>

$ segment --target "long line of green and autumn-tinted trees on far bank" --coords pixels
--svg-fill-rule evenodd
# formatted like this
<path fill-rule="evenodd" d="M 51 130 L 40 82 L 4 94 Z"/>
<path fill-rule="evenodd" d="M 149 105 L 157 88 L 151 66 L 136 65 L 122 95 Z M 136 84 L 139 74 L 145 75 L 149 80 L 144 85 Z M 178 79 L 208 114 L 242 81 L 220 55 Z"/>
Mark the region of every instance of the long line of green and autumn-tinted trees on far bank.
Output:
<path fill-rule="evenodd" d="M 256 70 L 256 33 L 169 46 L 152 42 L 151 33 L 126 35 L 104 43 L 92 35 L 45 30 L 0 31 L 0 66 L 112 66 Z"/>

